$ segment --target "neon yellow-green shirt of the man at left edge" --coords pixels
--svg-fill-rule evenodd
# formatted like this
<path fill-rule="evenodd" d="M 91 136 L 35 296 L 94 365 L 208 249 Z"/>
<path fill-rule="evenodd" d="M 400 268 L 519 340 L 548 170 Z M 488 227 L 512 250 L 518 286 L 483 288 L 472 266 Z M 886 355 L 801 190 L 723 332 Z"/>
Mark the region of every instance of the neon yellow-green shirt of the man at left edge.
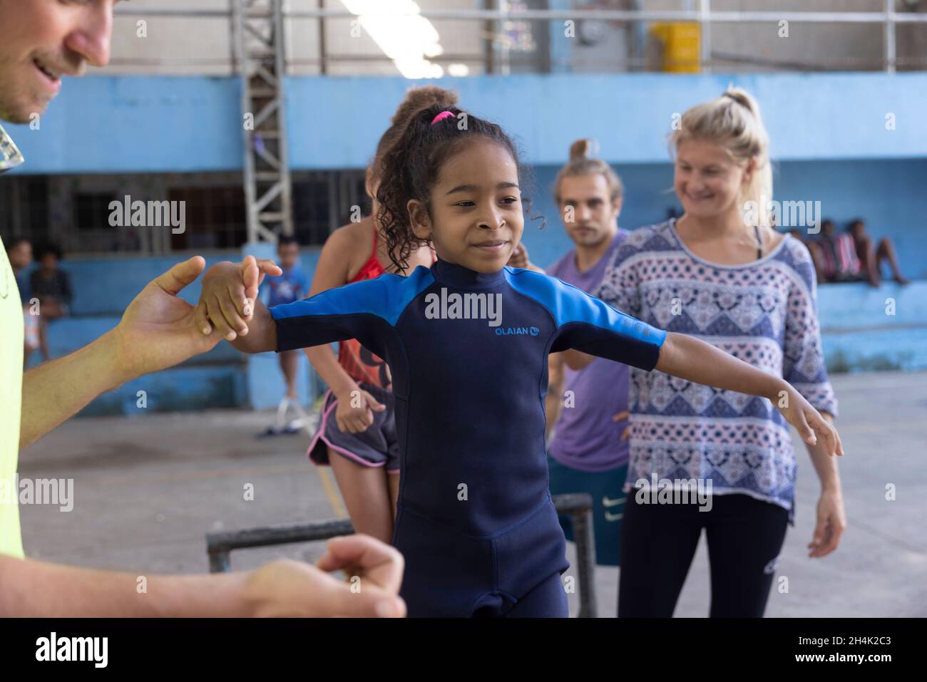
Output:
<path fill-rule="evenodd" d="M 19 410 L 22 407 L 22 302 L 0 239 L 0 554 L 22 557 L 19 536 Z"/>

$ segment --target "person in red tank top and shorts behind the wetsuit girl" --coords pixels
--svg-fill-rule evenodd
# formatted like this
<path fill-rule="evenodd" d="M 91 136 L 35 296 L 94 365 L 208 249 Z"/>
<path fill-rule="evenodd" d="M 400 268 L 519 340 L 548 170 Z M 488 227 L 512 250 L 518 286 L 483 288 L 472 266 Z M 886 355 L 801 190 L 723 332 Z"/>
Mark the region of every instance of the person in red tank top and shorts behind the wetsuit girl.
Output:
<path fill-rule="evenodd" d="M 457 95 L 435 86 L 410 90 L 376 146 L 367 169 L 367 194 L 374 202 L 372 215 L 339 227 L 325 242 L 312 277 L 310 296 L 359 280 L 396 272 L 387 244 L 373 216 L 379 164 L 400 137 L 416 111 L 433 105 L 456 105 Z M 434 251 L 425 246 L 413 251 L 408 274 L 417 266 L 430 267 Z M 312 438 L 309 457 L 332 467 L 351 522 L 358 533 L 390 542 L 399 494 L 399 444 L 393 411 L 391 378 L 386 362 L 356 339 L 338 344 L 337 358 L 330 346 L 306 348 L 312 367 L 323 378 L 325 392 L 319 429 Z"/>

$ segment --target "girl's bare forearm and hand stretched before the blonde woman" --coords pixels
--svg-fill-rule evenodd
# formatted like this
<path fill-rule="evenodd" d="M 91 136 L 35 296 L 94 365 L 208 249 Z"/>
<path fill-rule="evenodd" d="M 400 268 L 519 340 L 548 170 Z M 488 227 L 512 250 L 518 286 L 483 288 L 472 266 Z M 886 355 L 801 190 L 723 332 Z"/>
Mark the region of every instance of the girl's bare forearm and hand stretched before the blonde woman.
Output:
<path fill-rule="evenodd" d="M 844 454 L 840 436 L 792 385 L 779 376 L 763 372 L 711 344 L 692 336 L 670 332 L 660 348 L 654 368 L 659 372 L 750 396 L 767 398 L 810 445 L 819 434 L 828 454 Z"/>

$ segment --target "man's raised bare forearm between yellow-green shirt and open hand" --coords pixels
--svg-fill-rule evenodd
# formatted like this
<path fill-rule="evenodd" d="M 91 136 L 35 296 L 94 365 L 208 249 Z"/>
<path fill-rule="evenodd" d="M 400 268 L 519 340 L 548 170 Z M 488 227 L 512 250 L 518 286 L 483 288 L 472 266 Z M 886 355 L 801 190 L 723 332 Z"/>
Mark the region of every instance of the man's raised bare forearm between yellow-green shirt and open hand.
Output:
<path fill-rule="evenodd" d="M 115 352 L 109 331 L 70 355 L 23 374 L 19 449 L 32 445 L 101 393 L 128 381 L 130 377 L 117 374 Z"/>

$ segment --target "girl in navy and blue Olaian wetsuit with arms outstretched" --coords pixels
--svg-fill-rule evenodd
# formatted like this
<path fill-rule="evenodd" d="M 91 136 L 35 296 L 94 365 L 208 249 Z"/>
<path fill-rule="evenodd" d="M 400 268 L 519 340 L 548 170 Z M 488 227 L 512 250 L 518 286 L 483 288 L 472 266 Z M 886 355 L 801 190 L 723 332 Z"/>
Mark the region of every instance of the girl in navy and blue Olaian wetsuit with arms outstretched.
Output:
<path fill-rule="evenodd" d="M 378 220 L 396 263 L 430 243 L 437 262 L 274 309 L 260 271 L 203 279 L 210 319 L 246 352 L 357 338 L 387 360 L 400 494 L 393 543 L 410 615 L 567 615 L 565 540 L 548 492 L 547 356 L 575 348 L 774 401 L 802 436 L 839 437 L 791 385 L 702 341 L 667 334 L 578 288 L 506 267 L 524 229 L 511 139 L 457 107 L 415 114 L 383 159 Z M 395 247 L 395 248 L 394 248 Z"/>

